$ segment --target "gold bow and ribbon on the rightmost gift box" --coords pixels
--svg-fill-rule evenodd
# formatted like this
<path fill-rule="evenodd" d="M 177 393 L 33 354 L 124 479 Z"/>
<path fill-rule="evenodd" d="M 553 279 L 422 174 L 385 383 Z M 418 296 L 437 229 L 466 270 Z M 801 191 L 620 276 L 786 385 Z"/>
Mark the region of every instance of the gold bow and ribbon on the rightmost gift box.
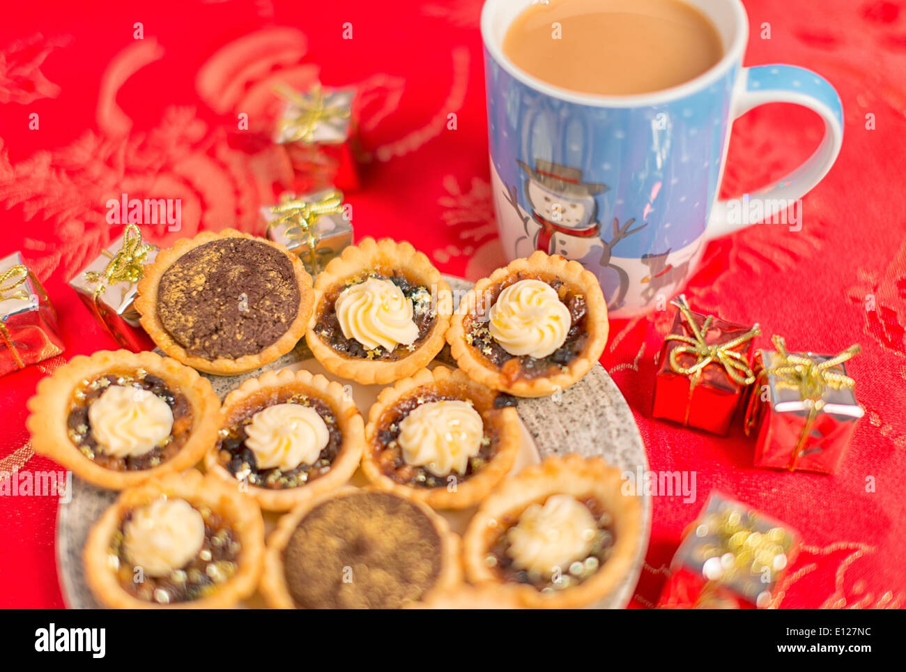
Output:
<path fill-rule="evenodd" d="M 853 389 L 855 386 L 855 380 L 844 373 L 834 371 L 834 369 L 843 364 L 844 361 L 852 359 L 862 351 L 862 348 L 856 343 L 831 359 L 818 362 L 811 357 L 788 352 L 786 350 L 786 341 L 784 341 L 782 336 L 774 335 L 771 341 L 774 342 L 778 358 L 776 363 L 770 369 L 767 369 L 765 373 L 774 374 L 778 379 L 778 384 L 785 386 L 786 389 L 797 389 L 799 398 L 802 399 L 805 408 L 808 410 L 808 415 L 805 416 L 805 424 L 799 433 L 793 452 L 790 455 L 790 460 L 786 465 L 787 469 L 795 471 L 796 463 L 812 431 L 814 420 L 821 413 L 826 403 L 824 401 L 824 393 L 828 388 Z"/>

